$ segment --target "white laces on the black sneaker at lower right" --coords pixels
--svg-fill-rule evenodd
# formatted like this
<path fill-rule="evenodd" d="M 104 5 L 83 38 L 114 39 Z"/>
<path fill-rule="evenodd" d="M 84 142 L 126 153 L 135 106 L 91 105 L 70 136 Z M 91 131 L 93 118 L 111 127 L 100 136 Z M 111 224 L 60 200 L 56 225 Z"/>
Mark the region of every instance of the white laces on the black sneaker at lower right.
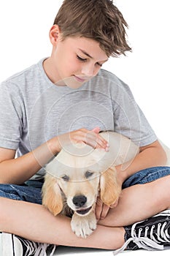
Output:
<path fill-rule="evenodd" d="M 151 228 L 148 226 L 145 227 L 144 236 L 141 236 L 143 230 L 142 227 L 139 228 L 139 233 L 136 233 L 135 227 L 139 223 L 141 222 L 137 222 L 132 225 L 131 238 L 128 238 L 128 240 L 125 241 L 125 244 L 123 244 L 120 249 L 115 250 L 115 252 L 113 252 L 113 255 L 117 255 L 118 253 L 123 252 L 131 241 L 133 241 L 139 248 L 147 250 L 163 250 L 162 243 L 170 242 L 170 236 L 168 230 L 166 229 L 167 222 L 164 222 L 163 224 L 158 223 L 157 232 L 154 232 L 155 225 L 152 225 Z M 150 234 L 148 234 L 148 230 L 150 230 Z M 148 238 L 148 235 L 150 236 L 150 238 Z"/>

